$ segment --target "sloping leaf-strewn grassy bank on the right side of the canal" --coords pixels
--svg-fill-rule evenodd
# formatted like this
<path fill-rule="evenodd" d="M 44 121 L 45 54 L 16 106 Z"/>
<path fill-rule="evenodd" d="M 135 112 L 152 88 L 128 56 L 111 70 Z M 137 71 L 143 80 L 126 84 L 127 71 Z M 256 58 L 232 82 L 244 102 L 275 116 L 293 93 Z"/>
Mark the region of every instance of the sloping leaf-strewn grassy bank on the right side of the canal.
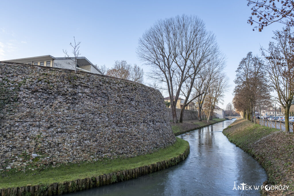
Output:
<path fill-rule="evenodd" d="M 223 130 L 229 141 L 250 153 L 264 167 L 270 185 L 288 190 L 270 190 L 264 195 L 294 195 L 294 135 L 239 119 Z"/>

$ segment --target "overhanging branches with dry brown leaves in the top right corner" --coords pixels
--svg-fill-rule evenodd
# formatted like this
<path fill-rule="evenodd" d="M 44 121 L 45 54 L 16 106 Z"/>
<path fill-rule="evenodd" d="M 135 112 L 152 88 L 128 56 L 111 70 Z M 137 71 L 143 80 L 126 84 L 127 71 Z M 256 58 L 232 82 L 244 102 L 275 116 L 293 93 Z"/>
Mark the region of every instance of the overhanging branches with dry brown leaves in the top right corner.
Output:
<path fill-rule="evenodd" d="M 261 31 L 263 27 L 274 22 L 294 26 L 294 1 L 292 0 L 247 0 L 247 6 L 252 6 L 248 23 L 258 26 L 253 28 Z M 256 17 L 254 19 L 253 17 Z"/>

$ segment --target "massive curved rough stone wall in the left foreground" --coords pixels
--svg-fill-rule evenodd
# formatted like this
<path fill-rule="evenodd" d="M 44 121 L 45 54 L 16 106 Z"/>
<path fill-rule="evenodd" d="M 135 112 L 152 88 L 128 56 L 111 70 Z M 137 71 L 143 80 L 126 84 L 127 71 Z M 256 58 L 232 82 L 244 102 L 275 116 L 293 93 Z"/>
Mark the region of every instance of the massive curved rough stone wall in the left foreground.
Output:
<path fill-rule="evenodd" d="M 163 97 L 151 87 L 0 62 L 0 170 L 133 157 L 173 142 Z"/>

